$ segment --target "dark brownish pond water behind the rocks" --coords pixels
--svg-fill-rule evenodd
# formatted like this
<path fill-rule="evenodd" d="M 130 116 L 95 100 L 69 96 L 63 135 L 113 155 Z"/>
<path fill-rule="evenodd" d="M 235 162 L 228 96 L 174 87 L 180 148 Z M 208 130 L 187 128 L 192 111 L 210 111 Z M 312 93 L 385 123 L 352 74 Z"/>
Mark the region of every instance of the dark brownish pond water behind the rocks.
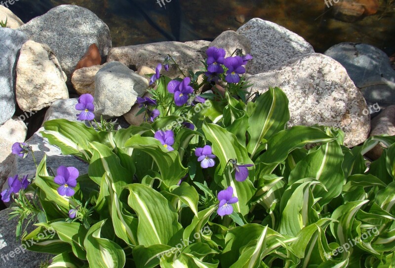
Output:
<path fill-rule="evenodd" d="M 243 17 L 245 22 L 259 17 L 299 34 L 316 52 L 352 41 L 395 53 L 395 0 L 379 0 L 376 14 L 353 23 L 334 19 L 324 0 L 167 1 L 160 7 L 157 0 L 19 0 L 10 9 L 27 22 L 60 4 L 86 7 L 107 23 L 113 46 L 212 40 L 225 30 L 237 30 Z"/>

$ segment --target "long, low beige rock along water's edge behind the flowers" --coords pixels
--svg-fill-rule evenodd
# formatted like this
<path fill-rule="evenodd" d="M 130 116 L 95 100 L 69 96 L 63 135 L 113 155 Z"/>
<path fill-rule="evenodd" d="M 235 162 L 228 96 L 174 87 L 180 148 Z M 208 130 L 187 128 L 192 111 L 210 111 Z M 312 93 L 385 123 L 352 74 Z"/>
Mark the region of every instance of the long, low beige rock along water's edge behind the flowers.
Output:
<path fill-rule="evenodd" d="M 163 63 L 164 57 L 170 54 L 180 66 L 184 74 L 188 70 L 197 72 L 203 65 L 199 60 L 206 57 L 206 49 L 210 42 L 198 40 L 190 42 L 158 42 L 150 44 L 114 47 L 110 50 L 107 61 L 119 61 L 133 70 L 141 66 L 155 68 L 158 63 Z M 175 64 L 171 64 L 169 71 L 162 72 L 168 77 L 182 77 Z"/>

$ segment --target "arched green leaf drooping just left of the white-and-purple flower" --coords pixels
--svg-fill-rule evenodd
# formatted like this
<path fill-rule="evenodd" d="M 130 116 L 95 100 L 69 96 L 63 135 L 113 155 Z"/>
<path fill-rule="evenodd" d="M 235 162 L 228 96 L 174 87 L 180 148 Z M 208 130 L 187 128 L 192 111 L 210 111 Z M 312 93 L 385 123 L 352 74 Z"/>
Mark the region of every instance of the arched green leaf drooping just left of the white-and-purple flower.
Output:
<path fill-rule="evenodd" d="M 176 185 L 187 173 L 188 169 L 182 165 L 178 152 L 168 152 L 155 138 L 134 135 L 125 146 L 150 154 L 158 165 L 162 182 L 166 187 Z"/>

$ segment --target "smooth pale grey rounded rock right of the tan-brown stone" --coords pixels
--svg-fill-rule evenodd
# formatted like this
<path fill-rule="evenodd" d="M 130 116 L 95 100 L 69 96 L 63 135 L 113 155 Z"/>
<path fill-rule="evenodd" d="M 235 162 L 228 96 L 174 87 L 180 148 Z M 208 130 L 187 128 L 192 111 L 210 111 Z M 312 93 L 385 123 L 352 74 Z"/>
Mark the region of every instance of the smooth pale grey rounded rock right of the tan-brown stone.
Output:
<path fill-rule="evenodd" d="M 109 62 L 95 76 L 95 112 L 105 117 L 124 115 L 147 88 L 146 78 L 120 62 Z"/>

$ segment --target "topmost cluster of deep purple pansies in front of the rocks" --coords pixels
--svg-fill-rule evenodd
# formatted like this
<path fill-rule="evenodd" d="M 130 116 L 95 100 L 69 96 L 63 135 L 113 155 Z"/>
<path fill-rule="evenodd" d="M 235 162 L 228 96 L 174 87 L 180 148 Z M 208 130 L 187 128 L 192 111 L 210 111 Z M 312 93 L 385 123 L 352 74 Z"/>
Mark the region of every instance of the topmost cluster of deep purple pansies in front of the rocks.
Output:
<path fill-rule="evenodd" d="M 225 50 L 223 48 L 209 47 L 206 50 L 207 54 L 207 72 L 205 73 L 209 82 L 217 82 L 220 75 L 224 73 L 224 65 L 228 71 L 226 72 L 225 80 L 228 83 L 238 83 L 240 75 L 245 73 L 245 65 L 252 59 L 250 54 L 225 57 Z"/>

